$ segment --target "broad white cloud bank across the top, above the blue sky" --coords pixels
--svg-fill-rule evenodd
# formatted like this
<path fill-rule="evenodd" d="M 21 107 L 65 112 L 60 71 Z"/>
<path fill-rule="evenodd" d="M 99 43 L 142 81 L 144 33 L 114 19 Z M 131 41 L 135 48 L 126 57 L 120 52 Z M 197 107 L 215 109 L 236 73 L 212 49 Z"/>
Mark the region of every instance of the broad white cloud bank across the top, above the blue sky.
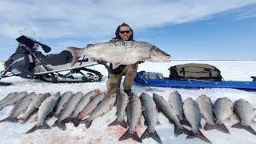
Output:
<path fill-rule="evenodd" d="M 193 22 L 255 0 L 90 0 L 10 1 L 0 3 L 0 36 L 16 38 L 29 27 L 41 38 L 106 38 L 127 22 L 134 30 Z"/>

